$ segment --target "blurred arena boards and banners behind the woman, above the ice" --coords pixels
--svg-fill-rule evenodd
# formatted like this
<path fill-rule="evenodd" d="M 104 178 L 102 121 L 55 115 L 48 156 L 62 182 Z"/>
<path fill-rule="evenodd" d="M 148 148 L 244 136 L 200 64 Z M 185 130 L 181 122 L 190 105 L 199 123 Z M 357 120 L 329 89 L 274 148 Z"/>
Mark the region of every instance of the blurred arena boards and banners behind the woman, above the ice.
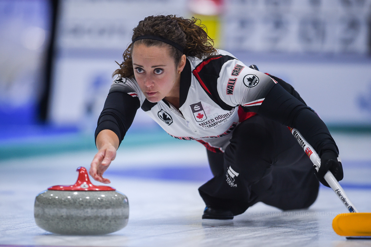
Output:
<path fill-rule="evenodd" d="M 0 0 L 0 159 L 95 149 L 115 61 L 157 14 L 200 18 L 330 131 L 371 132 L 371 0 Z M 140 109 L 125 139 L 177 141 Z"/>

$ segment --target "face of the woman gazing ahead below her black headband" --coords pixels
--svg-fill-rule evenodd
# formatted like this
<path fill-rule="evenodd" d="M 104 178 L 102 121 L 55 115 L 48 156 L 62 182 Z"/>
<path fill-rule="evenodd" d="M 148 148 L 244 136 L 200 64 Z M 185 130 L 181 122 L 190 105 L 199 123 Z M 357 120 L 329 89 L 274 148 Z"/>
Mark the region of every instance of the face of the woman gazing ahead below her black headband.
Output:
<path fill-rule="evenodd" d="M 135 45 L 132 51 L 134 76 L 139 88 L 150 102 L 165 97 L 179 98 L 180 73 L 167 46 Z M 184 56 L 185 57 L 185 56 Z"/>

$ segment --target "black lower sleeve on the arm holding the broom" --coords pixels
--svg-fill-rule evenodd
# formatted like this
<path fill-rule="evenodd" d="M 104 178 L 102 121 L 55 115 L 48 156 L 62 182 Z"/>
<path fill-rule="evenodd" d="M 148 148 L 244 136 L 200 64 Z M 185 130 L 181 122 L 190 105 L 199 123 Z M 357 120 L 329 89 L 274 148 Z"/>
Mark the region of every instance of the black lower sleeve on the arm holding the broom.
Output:
<path fill-rule="evenodd" d="M 320 157 L 325 151 L 339 153 L 325 123 L 303 101 L 286 91 L 280 83 L 274 85 L 266 95 L 258 113 L 298 129 Z"/>

